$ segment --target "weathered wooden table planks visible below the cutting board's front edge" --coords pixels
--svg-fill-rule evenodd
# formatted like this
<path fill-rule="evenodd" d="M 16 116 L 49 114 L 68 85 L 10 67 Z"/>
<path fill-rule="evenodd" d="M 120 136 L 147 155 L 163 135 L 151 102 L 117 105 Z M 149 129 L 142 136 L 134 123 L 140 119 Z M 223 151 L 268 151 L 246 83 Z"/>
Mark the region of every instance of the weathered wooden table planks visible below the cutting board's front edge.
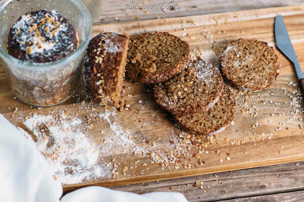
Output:
<path fill-rule="evenodd" d="M 162 180 L 112 189 L 137 194 L 180 192 L 189 201 L 302 201 L 304 162 Z M 203 181 L 203 189 L 195 182 Z M 170 188 L 171 187 L 171 188 Z M 279 194 L 282 192 L 289 192 Z M 263 196 L 259 196 L 263 195 Z M 282 198 L 281 198 L 282 197 Z M 280 199 L 281 198 L 281 199 Z M 259 200 L 258 200 L 259 199 Z"/>

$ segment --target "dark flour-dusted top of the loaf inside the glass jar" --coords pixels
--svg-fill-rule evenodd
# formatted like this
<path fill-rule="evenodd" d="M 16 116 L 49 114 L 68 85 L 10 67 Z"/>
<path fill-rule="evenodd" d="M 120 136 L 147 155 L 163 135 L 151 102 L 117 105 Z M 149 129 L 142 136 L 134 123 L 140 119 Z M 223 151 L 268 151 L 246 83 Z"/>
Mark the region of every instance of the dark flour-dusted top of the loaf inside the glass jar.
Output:
<path fill-rule="evenodd" d="M 10 28 L 7 50 L 10 55 L 28 62 L 52 62 L 74 52 L 76 32 L 56 10 L 45 9 L 22 15 Z"/>

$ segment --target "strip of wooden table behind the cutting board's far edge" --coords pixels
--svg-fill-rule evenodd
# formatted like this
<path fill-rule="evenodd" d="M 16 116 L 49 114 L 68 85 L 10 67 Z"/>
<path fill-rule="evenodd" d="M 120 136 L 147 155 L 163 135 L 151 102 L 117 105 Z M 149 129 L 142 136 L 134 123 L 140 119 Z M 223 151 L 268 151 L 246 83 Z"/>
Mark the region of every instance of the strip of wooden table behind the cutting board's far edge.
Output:
<path fill-rule="evenodd" d="M 125 4 L 141 5 L 173 5 L 178 4 L 179 9 L 125 9 Z M 169 17 L 183 17 L 193 15 L 204 15 L 211 13 L 225 13 L 251 9 L 265 9 L 279 6 L 295 6 L 303 4 L 303 0 L 110 0 L 99 20 L 95 24 L 108 24 L 117 22 L 132 22 L 141 20 L 151 20 Z"/>

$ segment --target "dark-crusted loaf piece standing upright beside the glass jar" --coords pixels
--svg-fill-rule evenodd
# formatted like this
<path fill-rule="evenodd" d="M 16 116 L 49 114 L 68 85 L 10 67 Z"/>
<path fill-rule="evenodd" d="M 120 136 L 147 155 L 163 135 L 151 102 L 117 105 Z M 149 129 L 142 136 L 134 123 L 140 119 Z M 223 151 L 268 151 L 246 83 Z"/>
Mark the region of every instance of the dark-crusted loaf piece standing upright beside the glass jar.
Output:
<path fill-rule="evenodd" d="M 119 107 L 129 41 L 125 35 L 105 32 L 89 43 L 84 72 L 86 93 L 101 105 Z"/>

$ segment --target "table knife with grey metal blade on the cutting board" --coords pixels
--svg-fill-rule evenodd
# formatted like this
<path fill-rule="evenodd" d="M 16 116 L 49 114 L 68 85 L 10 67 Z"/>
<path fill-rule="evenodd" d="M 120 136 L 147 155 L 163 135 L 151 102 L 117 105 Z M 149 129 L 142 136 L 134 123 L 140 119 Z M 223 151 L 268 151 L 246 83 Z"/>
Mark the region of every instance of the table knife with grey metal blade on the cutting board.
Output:
<path fill-rule="evenodd" d="M 294 52 L 294 47 L 291 44 L 283 17 L 278 15 L 275 17 L 275 42 L 279 50 L 281 50 L 288 59 L 293 62 L 295 71 L 299 79 L 299 88 L 304 98 L 304 74 L 302 72 L 297 55 Z"/>

